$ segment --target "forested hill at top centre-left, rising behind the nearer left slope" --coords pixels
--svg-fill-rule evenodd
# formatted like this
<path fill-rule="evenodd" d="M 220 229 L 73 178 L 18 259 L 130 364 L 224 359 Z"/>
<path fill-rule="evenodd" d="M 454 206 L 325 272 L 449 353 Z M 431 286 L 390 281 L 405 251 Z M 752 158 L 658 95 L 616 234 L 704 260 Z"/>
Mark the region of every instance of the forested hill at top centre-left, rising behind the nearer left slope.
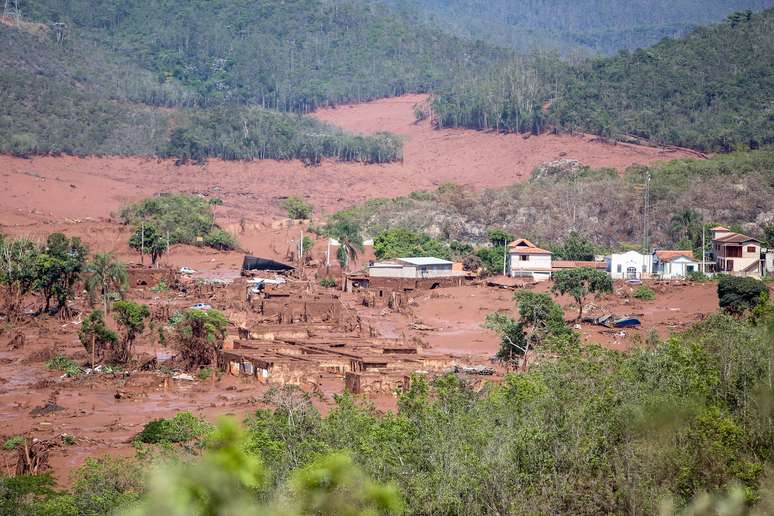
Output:
<path fill-rule="evenodd" d="M 308 112 L 430 91 L 505 55 L 364 0 L 38 0 L 28 10 L 177 81 L 191 94 L 182 105 Z"/>

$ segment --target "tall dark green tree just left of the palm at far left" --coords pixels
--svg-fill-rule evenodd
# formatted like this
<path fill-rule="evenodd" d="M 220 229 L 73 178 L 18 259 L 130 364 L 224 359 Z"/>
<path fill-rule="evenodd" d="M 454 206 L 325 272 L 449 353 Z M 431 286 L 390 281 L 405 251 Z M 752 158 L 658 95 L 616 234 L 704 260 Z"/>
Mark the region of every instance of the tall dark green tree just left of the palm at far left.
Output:
<path fill-rule="evenodd" d="M 49 311 L 52 297 L 56 299 L 57 311 L 67 311 L 67 301 L 75 294 L 73 286 L 80 277 L 87 254 L 88 248 L 78 237 L 68 238 L 62 233 L 48 236 L 37 256 L 35 270 L 35 287 L 43 295 L 45 311 Z"/>

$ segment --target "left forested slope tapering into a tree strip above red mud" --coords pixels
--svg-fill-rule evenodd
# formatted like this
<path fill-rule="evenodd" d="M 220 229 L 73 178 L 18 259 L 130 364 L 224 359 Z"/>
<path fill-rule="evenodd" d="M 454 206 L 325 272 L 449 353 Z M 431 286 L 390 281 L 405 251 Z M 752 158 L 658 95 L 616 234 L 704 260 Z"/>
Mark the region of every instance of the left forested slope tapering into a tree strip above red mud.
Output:
<path fill-rule="evenodd" d="M 180 81 L 159 81 L 78 34 L 59 36 L 48 25 L 0 24 L 0 152 L 308 163 L 324 157 L 387 162 L 402 155 L 394 135 L 351 135 L 297 114 L 240 105 L 174 108 L 196 105 Z"/>

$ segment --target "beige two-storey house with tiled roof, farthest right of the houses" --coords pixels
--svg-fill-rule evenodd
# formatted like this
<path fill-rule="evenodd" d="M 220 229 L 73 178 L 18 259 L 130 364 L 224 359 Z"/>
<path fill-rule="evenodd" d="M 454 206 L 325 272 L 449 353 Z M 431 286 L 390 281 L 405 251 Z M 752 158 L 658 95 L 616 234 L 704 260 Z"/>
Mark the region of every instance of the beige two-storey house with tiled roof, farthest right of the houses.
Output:
<path fill-rule="evenodd" d="M 712 228 L 712 255 L 717 272 L 761 277 L 761 241 L 722 226 Z"/>

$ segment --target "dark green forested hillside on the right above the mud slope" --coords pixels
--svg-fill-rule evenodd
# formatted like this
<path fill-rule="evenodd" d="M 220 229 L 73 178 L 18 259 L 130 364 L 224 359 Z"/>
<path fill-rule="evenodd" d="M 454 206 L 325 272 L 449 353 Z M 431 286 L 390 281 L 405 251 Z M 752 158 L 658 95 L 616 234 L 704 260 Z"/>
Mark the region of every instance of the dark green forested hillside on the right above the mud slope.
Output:
<path fill-rule="evenodd" d="M 737 13 L 646 50 L 575 65 L 519 58 L 440 91 L 441 127 L 613 138 L 728 151 L 774 141 L 774 10 Z"/>

